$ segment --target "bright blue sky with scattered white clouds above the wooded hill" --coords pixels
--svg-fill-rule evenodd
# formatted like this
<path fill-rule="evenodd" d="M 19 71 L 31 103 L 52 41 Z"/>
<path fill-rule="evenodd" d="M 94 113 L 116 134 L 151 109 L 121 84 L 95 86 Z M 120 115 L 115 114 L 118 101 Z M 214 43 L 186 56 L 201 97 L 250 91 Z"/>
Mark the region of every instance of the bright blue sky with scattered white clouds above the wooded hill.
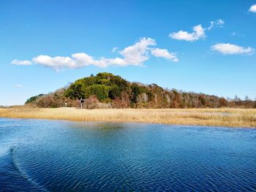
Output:
<path fill-rule="evenodd" d="M 256 98 L 256 0 L 2 0 L 0 105 L 82 77 Z"/>

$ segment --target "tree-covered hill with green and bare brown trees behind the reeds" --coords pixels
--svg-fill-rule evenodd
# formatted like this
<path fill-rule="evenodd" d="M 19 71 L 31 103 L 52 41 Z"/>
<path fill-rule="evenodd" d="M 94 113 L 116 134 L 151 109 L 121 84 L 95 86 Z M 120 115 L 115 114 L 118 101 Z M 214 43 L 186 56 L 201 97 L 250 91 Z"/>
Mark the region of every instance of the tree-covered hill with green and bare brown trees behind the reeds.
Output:
<path fill-rule="evenodd" d="M 256 101 L 248 97 L 244 101 L 225 99 L 203 93 L 164 89 L 157 84 L 143 85 L 128 82 L 120 76 L 99 73 L 96 76 L 76 80 L 66 88 L 53 93 L 32 96 L 26 104 L 35 107 L 79 107 L 79 99 L 84 99 L 84 107 L 93 108 L 203 108 L 203 107 L 243 107 L 256 108 Z"/>

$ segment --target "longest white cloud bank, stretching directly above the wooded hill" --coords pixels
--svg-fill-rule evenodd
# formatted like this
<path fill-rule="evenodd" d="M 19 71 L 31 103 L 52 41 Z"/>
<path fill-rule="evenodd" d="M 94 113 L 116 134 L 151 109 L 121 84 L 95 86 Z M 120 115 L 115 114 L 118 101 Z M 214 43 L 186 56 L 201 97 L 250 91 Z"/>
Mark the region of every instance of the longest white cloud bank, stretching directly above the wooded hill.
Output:
<path fill-rule="evenodd" d="M 71 57 L 56 56 L 50 57 L 49 55 L 38 55 L 32 59 L 34 64 L 48 66 L 56 71 L 61 69 L 70 68 L 76 69 L 89 65 L 107 67 L 107 66 L 142 66 L 143 62 L 149 59 L 150 55 L 169 59 L 170 61 L 178 61 L 174 53 L 169 53 L 167 50 L 154 48 L 157 42 L 154 39 L 143 37 L 139 42 L 134 45 L 124 48 L 118 53 L 122 58 L 94 58 L 86 53 L 74 53 Z M 116 50 L 115 50 L 116 51 Z M 17 61 L 17 60 L 14 60 Z M 12 63 L 14 62 L 12 61 Z M 19 61 L 23 62 L 23 61 Z M 31 61 L 29 61 L 31 63 Z"/>

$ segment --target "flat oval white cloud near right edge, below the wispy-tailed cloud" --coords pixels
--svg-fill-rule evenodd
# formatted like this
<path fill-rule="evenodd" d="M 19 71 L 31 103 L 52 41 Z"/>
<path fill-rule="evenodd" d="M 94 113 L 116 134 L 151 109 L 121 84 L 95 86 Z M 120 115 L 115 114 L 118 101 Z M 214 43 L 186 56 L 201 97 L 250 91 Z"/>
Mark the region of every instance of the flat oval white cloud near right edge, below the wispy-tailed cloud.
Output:
<path fill-rule="evenodd" d="M 218 51 L 224 55 L 233 55 L 233 54 L 245 54 L 250 55 L 255 50 L 252 47 L 240 47 L 238 45 L 233 45 L 230 43 L 218 43 L 211 46 L 211 50 Z"/>

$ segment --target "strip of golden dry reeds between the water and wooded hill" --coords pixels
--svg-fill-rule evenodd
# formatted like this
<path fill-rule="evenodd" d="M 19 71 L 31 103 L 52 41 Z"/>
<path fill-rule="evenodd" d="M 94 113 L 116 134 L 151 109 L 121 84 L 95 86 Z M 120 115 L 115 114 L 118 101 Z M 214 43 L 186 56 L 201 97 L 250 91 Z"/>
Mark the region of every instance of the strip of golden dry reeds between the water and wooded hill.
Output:
<path fill-rule="evenodd" d="M 256 109 L 233 108 L 79 110 L 21 107 L 0 109 L 0 117 L 256 128 Z"/>

